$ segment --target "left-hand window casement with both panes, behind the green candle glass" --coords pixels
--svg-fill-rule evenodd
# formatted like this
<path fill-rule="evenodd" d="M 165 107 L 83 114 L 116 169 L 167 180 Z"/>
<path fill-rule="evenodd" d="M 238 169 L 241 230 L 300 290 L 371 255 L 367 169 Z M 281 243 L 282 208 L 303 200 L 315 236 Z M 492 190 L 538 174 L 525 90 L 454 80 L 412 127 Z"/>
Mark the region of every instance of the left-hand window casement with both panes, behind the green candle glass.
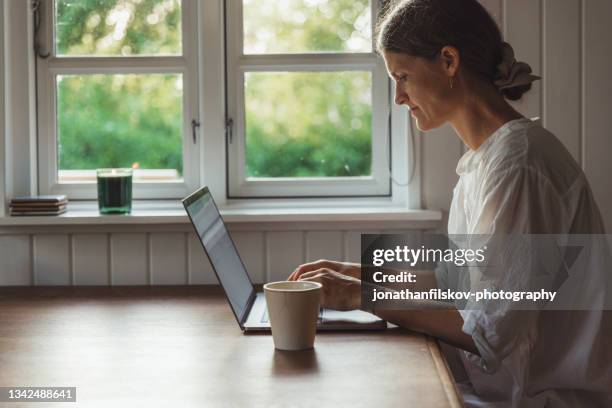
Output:
<path fill-rule="evenodd" d="M 134 168 L 136 198 L 179 198 L 198 186 L 196 6 L 40 3 L 41 193 L 95 198 L 102 167 Z"/>

